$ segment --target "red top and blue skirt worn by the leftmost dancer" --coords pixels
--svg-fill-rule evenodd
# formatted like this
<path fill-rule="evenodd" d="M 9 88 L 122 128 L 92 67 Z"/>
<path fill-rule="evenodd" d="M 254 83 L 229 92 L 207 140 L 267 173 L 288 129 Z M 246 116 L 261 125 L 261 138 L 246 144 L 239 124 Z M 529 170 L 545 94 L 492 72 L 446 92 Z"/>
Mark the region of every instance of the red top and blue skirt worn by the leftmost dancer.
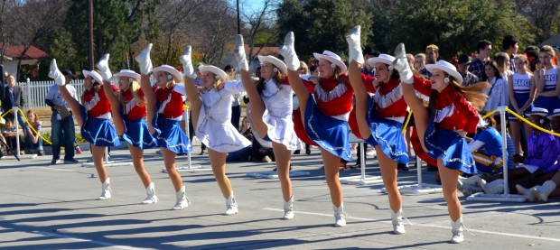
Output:
<path fill-rule="evenodd" d="M 112 86 L 113 91 L 118 90 Z M 112 93 L 111 93 L 112 95 Z M 105 90 L 86 91 L 83 95 L 84 104 L 79 106 L 82 118 L 81 135 L 90 144 L 100 147 L 120 145 L 115 126 L 111 123 L 111 104 Z"/>

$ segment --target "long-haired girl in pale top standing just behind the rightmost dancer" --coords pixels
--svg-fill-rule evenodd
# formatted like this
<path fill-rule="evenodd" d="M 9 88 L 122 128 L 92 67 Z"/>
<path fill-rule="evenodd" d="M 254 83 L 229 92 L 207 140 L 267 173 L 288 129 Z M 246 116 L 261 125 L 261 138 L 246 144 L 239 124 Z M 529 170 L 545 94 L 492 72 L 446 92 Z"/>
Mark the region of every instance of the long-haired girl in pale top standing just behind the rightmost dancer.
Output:
<path fill-rule="evenodd" d="M 488 101 L 482 110 L 490 112 L 496 110 L 498 106 L 508 106 L 508 86 L 501 78 L 495 61 L 489 60 L 484 63 L 482 80 L 488 81 L 491 86 L 490 89 L 483 90 L 484 94 L 488 95 Z"/>

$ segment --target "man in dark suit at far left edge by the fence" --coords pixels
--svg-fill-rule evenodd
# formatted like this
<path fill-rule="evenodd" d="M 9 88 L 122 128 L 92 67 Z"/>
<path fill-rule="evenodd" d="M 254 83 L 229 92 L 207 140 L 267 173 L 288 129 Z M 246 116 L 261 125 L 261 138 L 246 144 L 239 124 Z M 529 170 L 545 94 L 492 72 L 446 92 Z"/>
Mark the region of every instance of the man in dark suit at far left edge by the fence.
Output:
<path fill-rule="evenodd" d="M 25 106 L 25 100 L 23 99 L 23 92 L 22 92 L 22 88 L 19 86 L 15 86 L 15 78 L 14 75 L 8 75 L 7 78 L 5 78 L 6 82 L 7 82 L 7 86 L 4 88 L 4 99 L 2 100 L 2 109 L 4 110 L 5 113 L 7 113 L 4 118 L 6 120 L 12 120 L 12 122 L 14 122 L 14 106 L 17 106 L 18 108 L 23 108 L 23 106 Z M 17 122 L 19 123 L 19 125 L 23 128 L 23 130 L 25 129 L 25 121 L 23 120 L 23 116 L 21 114 L 21 112 L 15 111 L 17 112 Z"/>

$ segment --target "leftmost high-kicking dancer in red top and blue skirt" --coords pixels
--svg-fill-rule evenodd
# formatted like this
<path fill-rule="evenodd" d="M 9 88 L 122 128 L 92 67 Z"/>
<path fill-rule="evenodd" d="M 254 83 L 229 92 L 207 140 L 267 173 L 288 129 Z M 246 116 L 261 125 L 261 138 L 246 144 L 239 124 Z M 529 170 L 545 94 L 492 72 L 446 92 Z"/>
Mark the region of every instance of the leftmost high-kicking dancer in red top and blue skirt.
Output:
<path fill-rule="evenodd" d="M 84 74 L 84 93 L 81 97 L 82 104 L 70 95 L 64 88 L 64 76 L 56 65 L 56 60 L 51 61 L 49 77 L 59 85 L 61 96 L 70 105 L 76 122 L 81 127 L 81 135 L 91 144 L 91 154 L 96 171 L 101 181 L 101 195 L 98 199 L 110 199 L 111 187 L 107 169 L 103 165 L 103 156 L 106 147 L 120 144 L 115 126 L 111 123 L 111 104 L 107 99 L 105 89 L 101 88 L 103 79 L 96 70 L 82 70 Z M 113 87 L 116 91 L 117 87 Z M 72 150 L 72 149 L 70 149 Z"/>

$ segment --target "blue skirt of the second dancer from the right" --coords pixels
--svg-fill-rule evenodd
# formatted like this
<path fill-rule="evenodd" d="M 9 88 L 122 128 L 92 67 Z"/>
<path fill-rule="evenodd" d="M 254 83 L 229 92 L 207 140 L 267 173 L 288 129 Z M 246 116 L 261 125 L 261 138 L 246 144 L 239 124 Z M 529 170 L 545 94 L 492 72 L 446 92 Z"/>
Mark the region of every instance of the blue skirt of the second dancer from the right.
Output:
<path fill-rule="evenodd" d="M 379 145 L 383 153 L 395 162 L 408 163 L 405 138 L 401 132 L 403 124 L 380 117 L 372 97 L 368 97 L 366 120 L 371 130 L 371 135 L 365 139 L 366 143 L 374 147 Z"/>

